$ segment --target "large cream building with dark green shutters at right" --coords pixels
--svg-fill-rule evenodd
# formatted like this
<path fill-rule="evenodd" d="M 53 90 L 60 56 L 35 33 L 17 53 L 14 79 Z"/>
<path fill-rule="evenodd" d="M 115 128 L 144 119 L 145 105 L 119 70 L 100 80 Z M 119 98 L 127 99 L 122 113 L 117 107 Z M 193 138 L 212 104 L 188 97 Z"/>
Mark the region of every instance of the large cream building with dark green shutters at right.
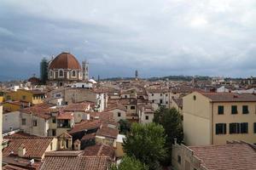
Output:
<path fill-rule="evenodd" d="M 200 93 L 183 97 L 183 131 L 187 145 L 256 143 L 256 96 Z"/>

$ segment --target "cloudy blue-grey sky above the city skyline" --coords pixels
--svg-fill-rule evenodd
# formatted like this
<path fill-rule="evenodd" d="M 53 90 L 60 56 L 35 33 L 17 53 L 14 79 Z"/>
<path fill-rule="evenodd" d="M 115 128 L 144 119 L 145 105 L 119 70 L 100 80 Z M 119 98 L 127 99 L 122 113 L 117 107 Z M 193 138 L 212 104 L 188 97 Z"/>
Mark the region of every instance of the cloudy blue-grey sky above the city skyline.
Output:
<path fill-rule="evenodd" d="M 256 1 L 0 0 L 0 81 L 62 51 L 90 77 L 256 77 Z"/>

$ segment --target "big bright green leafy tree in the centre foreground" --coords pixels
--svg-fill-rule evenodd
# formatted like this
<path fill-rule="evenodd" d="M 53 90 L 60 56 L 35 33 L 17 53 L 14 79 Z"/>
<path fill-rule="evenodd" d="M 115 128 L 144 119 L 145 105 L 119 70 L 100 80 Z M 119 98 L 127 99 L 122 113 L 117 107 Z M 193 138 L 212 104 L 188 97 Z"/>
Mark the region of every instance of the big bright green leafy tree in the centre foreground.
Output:
<path fill-rule="evenodd" d="M 161 125 L 133 123 L 124 141 L 124 150 L 127 156 L 135 157 L 149 169 L 159 169 L 160 161 L 166 156 L 165 144 L 165 130 Z"/>

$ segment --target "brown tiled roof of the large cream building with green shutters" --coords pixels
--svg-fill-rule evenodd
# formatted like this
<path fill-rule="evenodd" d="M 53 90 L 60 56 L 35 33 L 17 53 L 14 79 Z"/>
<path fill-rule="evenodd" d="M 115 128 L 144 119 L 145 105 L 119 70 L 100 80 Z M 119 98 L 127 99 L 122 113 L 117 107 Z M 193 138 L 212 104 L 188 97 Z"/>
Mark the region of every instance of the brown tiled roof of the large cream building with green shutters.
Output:
<path fill-rule="evenodd" d="M 256 102 L 254 94 L 236 94 L 236 93 L 200 93 L 211 99 L 212 102 Z"/>

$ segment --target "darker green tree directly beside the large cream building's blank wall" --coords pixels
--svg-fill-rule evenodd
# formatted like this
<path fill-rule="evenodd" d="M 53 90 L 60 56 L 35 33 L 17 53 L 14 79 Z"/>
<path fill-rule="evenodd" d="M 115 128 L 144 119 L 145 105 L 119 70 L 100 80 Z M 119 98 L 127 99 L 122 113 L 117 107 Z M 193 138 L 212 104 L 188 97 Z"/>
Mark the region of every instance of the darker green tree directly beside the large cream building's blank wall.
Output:
<path fill-rule="evenodd" d="M 169 165 L 172 161 L 172 144 L 174 143 L 174 139 L 177 139 L 178 144 L 183 141 L 182 116 L 175 108 L 167 109 L 160 107 L 160 109 L 154 112 L 153 122 L 165 128 L 168 156 L 163 163 Z"/>

